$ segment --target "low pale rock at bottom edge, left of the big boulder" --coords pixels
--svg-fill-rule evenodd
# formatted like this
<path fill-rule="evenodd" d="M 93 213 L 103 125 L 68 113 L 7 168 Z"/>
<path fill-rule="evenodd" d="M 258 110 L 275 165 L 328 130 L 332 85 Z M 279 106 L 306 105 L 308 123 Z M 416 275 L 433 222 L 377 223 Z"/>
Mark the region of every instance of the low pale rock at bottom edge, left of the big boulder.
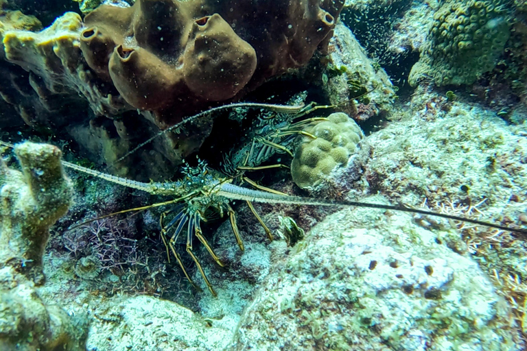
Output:
<path fill-rule="evenodd" d="M 215 320 L 151 296 L 116 297 L 95 314 L 90 350 L 224 350 L 232 337 Z"/>

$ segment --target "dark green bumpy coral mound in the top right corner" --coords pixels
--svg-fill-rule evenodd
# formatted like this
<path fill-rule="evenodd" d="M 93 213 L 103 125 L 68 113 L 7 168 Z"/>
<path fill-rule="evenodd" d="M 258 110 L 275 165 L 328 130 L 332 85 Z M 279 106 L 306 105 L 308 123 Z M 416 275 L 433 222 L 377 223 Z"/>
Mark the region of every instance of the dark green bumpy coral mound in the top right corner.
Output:
<path fill-rule="evenodd" d="M 408 81 L 423 77 L 437 85 L 471 84 L 490 71 L 510 36 L 501 0 L 451 1 L 434 14 L 428 43 L 414 64 Z"/>

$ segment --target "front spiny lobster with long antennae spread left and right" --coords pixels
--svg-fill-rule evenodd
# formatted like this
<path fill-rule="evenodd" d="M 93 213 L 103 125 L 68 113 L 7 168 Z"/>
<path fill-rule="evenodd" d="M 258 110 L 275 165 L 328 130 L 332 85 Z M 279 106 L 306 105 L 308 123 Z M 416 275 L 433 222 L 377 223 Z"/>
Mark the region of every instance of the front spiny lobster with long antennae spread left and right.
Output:
<path fill-rule="evenodd" d="M 188 123 L 189 121 L 198 119 L 199 117 L 202 117 L 204 114 L 213 112 L 213 110 L 219 110 L 223 108 L 237 108 L 237 107 L 248 107 L 248 108 L 266 108 L 269 110 L 274 110 L 277 112 L 284 112 L 284 113 L 298 113 L 298 112 L 304 112 L 305 113 L 305 106 L 281 106 L 281 105 L 270 105 L 270 104 L 249 104 L 249 103 L 241 103 L 241 104 L 230 104 L 226 106 L 221 106 L 219 108 L 213 108 L 212 110 L 207 110 L 204 112 L 201 112 L 200 114 L 196 114 L 193 117 L 189 117 L 187 119 L 184 119 L 180 123 L 177 123 L 176 125 L 172 126 L 168 130 L 174 130 L 176 128 L 179 128 L 184 123 Z M 312 106 L 308 106 L 308 108 L 313 109 Z M 316 108 L 316 107 L 315 107 Z M 318 106 L 320 108 L 320 106 Z M 307 110 L 307 112 L 311 112 L 311 110 Z M 166 132 L 167 130 L 165 130 Z M 150 138 L 145 143 L 142 143 L 135 149 L 133 149 L 130 153 L 134 152 L 139 147 L 142 147 L 146 143 L 149 143 L 152 141 L 153 138 Z M 0 145 L 12 147 L 13 145 L 9 143 L 4 143 L 0 141 Z M 128 153 L 128 154 L 130 154 Z M 126 154 L 124 157 L 128 156 Z M 435 213 L 429 210 L 421 210 L 419 208 L 410 208 L 403 205 L 385 205 L 385 204 L 371 204 L 366 202 L 355 202 L 355 201 L 336 201 L 333 199 L 318 199 L 318 198 L 310 198 L 310 197 L 298 197 L 298 196 L 290 196 L 281 194 L 278 192 L 270 192 L 270 191 L 262 191 L 262 190 L 253 190 L 253 189 L 247 189 L 242 186 L 239 186 L 237 184 L 233 184 L 233 181 L 236 178 L 239 178 L 239 173 L 237 175 L 228 177 L 223 175 L 222 173 L 218 171 L 214 171 L 213 169 L 209 169 L 207 167 L 205 162 L 200 161 L 198 167 L 189 167 L 186 165 L 183 167 L 183 178 L 176 181 L 176 182 L 137 182 L 134 180 L 129 180 L 126 178 L 120 178 L 115 175 L 110 175 L 108 173 L 102 173 L 93 169 L 85 168 L 79 165 L 75 165 L 70 162 L 62 161 L 62 164 L 70 169 L 73 169 L 75 171 L 80 171 L 82 173 L 86 173 L 88 175 L 93 175 L 94 177 L 100 178 L 102 180 L 107 180 L 108 182 L 113 182 L 114 184 L 119 184 L 121 186 L 127 186 L 128 188 L 137 189 L 139 191 L 145 191 L 147 193 L 150 193 L 152 195 L 166 195 L 174 197 L 173 199 L 169 199 L 165 202 L 159 202 L 156 204 L 150 204 L 148 206 L 142 206 L 137 208 L 130 208 L 127 210 L 121 210 L 117 213 L 112 213 L 110 215 L 115 215 L 118 213 L 127 213 L 130 211 L 137 211 L 137 210 L 145 210 L 147 208 L 153 208 L 153 207 L 159 207 L 159 206 L 169 206 L 174 205 L 172 208 L 170 208 L 167 212 L 163 213 L 161 215 L 161 238 L 163 239 L 163 243 L 165 243 L 165 247 L 167 249 L 167 254 L 169 254 L 169 251 L 172 252 L 174 257 L 176 258 L 176 261 L 178 262 L 178 265 L 180 265 L 181 269 L 183 270 L 183 273 L 185 274 L 185 277 L 189 282 L 191 282 L 192 285 L 196 286 L 192 279 L 190 278 L 189 274 L 187 273 L 187 270 L 185 269 L 185 266 L 183 265 L 183 261 L 181 259 L 180 254 L 177 252 L 175 243 L 178 239 L 179 235 L 183 232 L 187 233 L 187 245 L 186 250 L 189 256 L 192 258 L 194 263 L 196 263 L 196 267 L 200 271 L 200 274 L 202 275 L 202 278 L 204 279 L 205 284 L 211 291 L 213 295 L 216 295 L 211 283 L 207 279 L 207 276 L 205 275 L 202 266 L 200 262 L 198 261 L 198 258 L 194 254 L 193 251 L 193 239 L 194 237 L 197 237 L 198 240 L 204 245 L 204 247 L 207 248 L 207 251 L 212 256 L 213 260 L 218 263 L 218 265 L 223 267 L 223 263 L 220 260 L 220 258 L 215 254 L 213 248 L 209 243 L 207 242 L 207 239 L 205 239 L 204 235 L 202 234 L 202 230 L 200 228 L 201 221 L 205 221 L 205 211 L 208 208 L 215 208 L 220 212 L 220 215 L 223 215 L 226 213 L 229 215 L 229 220 L 231 222 L 231 227 L 233 230 L 233 233 L 235 235 L 237 244 L 239 245 L 240 250 L 244 250 L 244 244 L 242 242 L 242 239 L 239 235 L 239 230 L 237 228 L 236 223 L 236 214 L 229 202 L 232 200 L 243 200 L 246 201 L 250 210 L 253 212 L 255 217 L 258 219 L 259 223 L 264 227 L 264 230 L 268 234 L 268 237 L 272 240 L 272 234 L 270 230 L 265 225 L 264 221 L 261 220 L 259 215 L 256 213 L 255 208 L 251 204 L 251 202 L 262 202 L 262 203 L 268 203 L 268 204 L 296 204 L 296 205 L 314 205 L 314 206 L 358 206 L 358 207 L 366 207 L 366 208 L 376 208 L 376 209 L 382 209 L 382 210 L 396 210 L 396 211 L 403 211 L 407 213 L 417 213 L 421 215 L 430 215 L 434 217 L 443 217 L 445 219 L 452 219 L 456 221 L 463 221 L 468 223 L 473 223 L 479 226 L 488 226 L 491 228 L 497 228 L 500 230 L 508 230 L 511 232 L 518 232 L 522 234 L 527 234 L 527 229 L 523 228 L 511 228 L 508 226 L 502 226 L 500 224 L 496 223 L 488 223 L 485 221 L 479 221 L 476 219 L 469 219 L 465 217 L 460 217 L 456 215 L 447 215 L 444 213 Z M 169 221 L 169 223 L 165 223 L 165 217 L 169 213 L 175 213 L 174 217 Z M 105 215 L 100 218 L 108 217 L 110 215 Z M 167 240 L 168 239 L 168 240 Z"/>

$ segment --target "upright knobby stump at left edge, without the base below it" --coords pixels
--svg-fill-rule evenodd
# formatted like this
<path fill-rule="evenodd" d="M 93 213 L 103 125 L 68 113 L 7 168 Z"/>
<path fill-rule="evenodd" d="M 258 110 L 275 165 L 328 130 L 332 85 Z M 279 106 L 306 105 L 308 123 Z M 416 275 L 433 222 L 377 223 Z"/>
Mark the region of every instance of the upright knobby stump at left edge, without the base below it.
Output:
<path fill-rule="evenodd" d="M 40 280 L 49 227 L 65 215 L 72 196 L 57 147 L 15 147 L 22 172 L 0 167 L 0 267 L 16 267 Z"/>

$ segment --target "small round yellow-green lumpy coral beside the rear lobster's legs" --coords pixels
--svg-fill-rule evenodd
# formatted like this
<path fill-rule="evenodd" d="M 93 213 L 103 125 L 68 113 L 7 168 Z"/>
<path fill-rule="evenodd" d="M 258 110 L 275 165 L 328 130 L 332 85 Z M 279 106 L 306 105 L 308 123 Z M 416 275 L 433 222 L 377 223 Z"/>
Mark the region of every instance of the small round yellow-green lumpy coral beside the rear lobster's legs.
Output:
<path fill-rule="evenodd" d="M 291 175 L 302 189 L 312 189 L 333 169 L 347 165 L 364 136 L 360 127 L 343 112 L 330 114 L 327 119 L 305 128 L 316 136 L 303 136 L 291 163 Z"/>

